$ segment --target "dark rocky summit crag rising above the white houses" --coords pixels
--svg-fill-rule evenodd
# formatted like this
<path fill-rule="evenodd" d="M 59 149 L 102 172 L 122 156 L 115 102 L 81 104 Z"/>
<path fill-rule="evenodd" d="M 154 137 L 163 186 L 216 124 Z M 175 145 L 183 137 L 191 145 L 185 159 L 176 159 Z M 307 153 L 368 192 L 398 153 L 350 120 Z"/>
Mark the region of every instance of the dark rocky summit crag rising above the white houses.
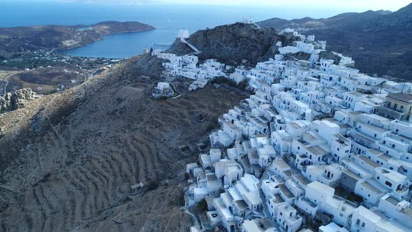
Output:
<path fill-rule="evenodd" d="M 281 36 L 272 28 L 258 29 L 253 24 L 238 22 L 197 31 L 186 41 L 202 51 L 197 55 L 201 60 L 214 58 L 230 65 L 255 65 L 278 52 L 277 42 L 290 45 L 295 39 L 293 36 Z M 193 50 L 177 39 L 169 52 L 185 55 Z"/>

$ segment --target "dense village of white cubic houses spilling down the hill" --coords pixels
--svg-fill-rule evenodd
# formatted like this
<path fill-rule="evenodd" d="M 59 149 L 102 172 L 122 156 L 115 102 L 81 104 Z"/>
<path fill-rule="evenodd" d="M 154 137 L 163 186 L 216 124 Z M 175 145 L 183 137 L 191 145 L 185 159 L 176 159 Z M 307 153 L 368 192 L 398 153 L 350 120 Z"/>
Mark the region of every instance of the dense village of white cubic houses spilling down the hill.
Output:
<path fill-rule="evenodd" d="M 187 31 L 193 54 L 152 52 L 165 59 L 156 98 L 179 77 L 189 90 L 225 78 L 253 91 L 186 165 L 191 231 L 412 231 L 412 84 L 362 74 L 315 36 L 280 34 L 297 40 L 255 67 L 198 64 Z"/>

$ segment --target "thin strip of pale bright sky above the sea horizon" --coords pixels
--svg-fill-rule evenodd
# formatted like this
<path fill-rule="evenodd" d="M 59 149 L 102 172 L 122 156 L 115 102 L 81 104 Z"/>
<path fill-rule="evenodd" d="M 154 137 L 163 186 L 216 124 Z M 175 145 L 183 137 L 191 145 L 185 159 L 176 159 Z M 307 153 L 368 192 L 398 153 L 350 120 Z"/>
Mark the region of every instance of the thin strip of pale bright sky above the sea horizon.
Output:
<path fill-rule="evenodd" d="M 84 3 L 116 3 L 116 4 L 209 4 L 230 6 L 297 6 L 310 8 L 344 8 L 356 11 L 362 10 L 399 10 L 411 0 L 47 0 L 75 1 Z"/>

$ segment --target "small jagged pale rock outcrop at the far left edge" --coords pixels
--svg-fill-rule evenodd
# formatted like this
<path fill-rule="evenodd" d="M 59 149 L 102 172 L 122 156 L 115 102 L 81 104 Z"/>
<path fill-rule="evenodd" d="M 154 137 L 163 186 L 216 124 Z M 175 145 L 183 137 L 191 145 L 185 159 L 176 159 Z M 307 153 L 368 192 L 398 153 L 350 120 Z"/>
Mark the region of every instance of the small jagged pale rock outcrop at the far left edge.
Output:
<path fill-rule="evenodd" d="M 18 89 L 13 94 L 7 93 L 6 96 L 0 97 L 0 113 L 24 108 L 29 101 L 39 97 L 29 88 Z"/>

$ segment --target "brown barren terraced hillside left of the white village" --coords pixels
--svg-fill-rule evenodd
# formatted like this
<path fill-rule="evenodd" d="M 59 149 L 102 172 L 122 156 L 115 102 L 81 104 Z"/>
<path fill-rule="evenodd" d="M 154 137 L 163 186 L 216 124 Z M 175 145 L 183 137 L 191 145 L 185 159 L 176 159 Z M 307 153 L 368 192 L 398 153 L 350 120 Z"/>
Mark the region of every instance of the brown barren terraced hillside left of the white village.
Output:
<path fill-rule="evenodd" d="M 0 231 L 187 231 L 182 172 L 198 152 L 178 147 L 207 140 L 247 96 L 206 87 L 156 101 L 160 72 L 135 57 L 0 115 Z"/>

